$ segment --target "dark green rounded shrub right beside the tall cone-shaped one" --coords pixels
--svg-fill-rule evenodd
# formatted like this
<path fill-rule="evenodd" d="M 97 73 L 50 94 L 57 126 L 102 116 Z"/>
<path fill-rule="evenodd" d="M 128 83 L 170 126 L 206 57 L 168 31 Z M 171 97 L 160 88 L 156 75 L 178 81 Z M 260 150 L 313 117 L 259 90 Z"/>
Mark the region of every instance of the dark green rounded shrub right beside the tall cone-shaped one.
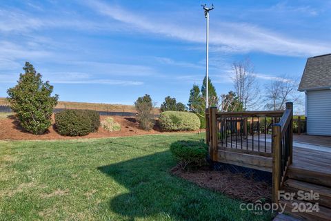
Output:
<path fill-rule="evenodd" d="M 65 110 L 55 114 L 55 127 L 61 135 L 83 136 L 98 130 L 100 116 L 97 111 Z"/>

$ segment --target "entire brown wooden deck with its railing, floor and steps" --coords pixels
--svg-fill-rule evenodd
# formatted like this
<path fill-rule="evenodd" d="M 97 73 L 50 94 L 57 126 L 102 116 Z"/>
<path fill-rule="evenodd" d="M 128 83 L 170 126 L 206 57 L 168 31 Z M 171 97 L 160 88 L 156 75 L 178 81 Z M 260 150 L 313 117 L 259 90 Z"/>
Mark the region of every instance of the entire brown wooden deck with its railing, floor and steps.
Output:
<path fill-rule="evenodd" d="M 283 112 L 217 113 L 212 107 L 205 118 L 212 161 L 270 172 L 273 203 L 304 220 L 330 221 L 331 137 L 293 135 L 292 103 L 286 103 Z M 279 191 L 294 193 L 294 197 L 284 198 Z M 319 193 L 320 197 L 300 198 L 299 191 Z M 307 206 L 310 201 L 317 203 L 317 211 L 292 210 L 294 203 Z"/>

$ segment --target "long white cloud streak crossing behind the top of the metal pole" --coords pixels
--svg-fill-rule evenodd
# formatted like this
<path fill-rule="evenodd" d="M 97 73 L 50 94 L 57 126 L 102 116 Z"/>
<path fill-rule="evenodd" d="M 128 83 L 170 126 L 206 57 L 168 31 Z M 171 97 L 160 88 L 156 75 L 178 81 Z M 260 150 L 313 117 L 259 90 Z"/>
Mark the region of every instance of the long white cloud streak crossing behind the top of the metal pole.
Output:
<path fill-rule="evenodd" d="M 156 17 L 149 19 L 147 13 L 137 15 L 119 6 L 110 6 L 101 1 L 90 1 L 88 6 L 101 15 L 122 23 L 130 24 L 137 31 L 173 37 L 197 43 L 205 42 L 203 26 L 181 23 L 178 19 L 168 22 L 158 21 Z M 286 37 L 277 32 L 254 26 L 250 23 L 233 23 L 213 21 L 210 30 L 211 50 L 225 52 L 260 51 L 274 55 L 310 56 L 330 52 L 326 42 L 306 41 Z"/>

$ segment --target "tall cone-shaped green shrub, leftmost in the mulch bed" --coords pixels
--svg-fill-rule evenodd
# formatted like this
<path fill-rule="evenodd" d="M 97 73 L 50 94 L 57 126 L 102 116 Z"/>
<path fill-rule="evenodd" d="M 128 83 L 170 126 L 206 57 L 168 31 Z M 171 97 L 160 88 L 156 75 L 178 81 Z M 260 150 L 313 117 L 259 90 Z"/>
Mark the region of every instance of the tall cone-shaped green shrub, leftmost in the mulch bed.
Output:
<path fill-rule="evenodd" d="M 41 80 L 41 74 L 26 62 L 24 74 L 19 75 L 19 81 L 9 88 L 8 101 L 10 108 L 16 113 L 21 127 L 26 131 L 40 135 L 51 125 L 53 108 L 57 105 L 58 95 L 52 95 L 53 86 L 48 81 Z"/>

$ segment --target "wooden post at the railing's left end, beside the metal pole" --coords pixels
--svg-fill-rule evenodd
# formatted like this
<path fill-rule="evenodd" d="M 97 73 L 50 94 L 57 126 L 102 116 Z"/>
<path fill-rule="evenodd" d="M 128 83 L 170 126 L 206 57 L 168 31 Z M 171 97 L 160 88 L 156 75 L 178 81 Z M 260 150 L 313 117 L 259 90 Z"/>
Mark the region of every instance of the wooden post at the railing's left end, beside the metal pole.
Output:
<path fill-rule="evenodd" d="M 210 160 L 217 161 L 217 107 L 209 108 Z"/>

